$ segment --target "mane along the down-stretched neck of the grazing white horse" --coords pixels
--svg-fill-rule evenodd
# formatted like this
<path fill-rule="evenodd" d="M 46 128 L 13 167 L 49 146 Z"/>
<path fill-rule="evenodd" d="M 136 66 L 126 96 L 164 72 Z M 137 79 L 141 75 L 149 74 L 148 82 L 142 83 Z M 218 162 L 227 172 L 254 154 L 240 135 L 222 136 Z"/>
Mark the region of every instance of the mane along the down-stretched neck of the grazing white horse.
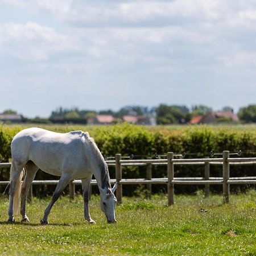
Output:
<path fill-rule="evenodd" d="M 95 143 L 94 139 L 90 137 L 88 132 L 82 133 L 82 135 L 84 135 L 86 141 L 89 142 L 89 145 L 92 148 L 98 160 L 98 165 L 100 166 L 100 170 L 101 170 L 101 187 L 111 188 L 108 166 L 105 162 L 104 157 L 101 154 L 101 151 L 98 149 L 97 144 Z"/>

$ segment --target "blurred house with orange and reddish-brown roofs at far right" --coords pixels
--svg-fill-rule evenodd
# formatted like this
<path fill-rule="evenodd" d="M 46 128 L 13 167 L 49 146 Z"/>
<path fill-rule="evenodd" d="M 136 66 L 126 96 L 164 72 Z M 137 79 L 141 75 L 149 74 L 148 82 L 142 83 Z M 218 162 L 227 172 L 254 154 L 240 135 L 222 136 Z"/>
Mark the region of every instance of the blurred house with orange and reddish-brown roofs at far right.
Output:
<path fill-rule="evenodd" d="M 232 111 L 213 111 L 209 112 L 207 115 L 196 115 L 191 119 L 189 123 L 192 125 L 199 123 L 216 123 L 218 121 L 231 121 L 238 122 L 239 118 L 237 114 Z"/>

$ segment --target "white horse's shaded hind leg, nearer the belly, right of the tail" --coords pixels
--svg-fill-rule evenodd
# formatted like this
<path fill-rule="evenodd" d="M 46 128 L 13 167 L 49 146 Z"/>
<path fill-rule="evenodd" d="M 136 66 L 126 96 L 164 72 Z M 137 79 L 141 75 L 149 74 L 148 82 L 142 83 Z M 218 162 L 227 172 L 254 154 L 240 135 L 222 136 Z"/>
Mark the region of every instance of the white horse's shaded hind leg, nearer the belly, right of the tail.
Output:
<path fill-rule="evenodd" d="M 25 166 L 26 176 L 22 183 L 21 188 L 21 202 L 20 202 L 20 214 L 22 214 L 22 221 L 30 221 L 26 215 L 26 200 L 27 194 L 30 189 L 32 181 L 35 179 L 38 167 L 33 162 L 28 162 Z"/>

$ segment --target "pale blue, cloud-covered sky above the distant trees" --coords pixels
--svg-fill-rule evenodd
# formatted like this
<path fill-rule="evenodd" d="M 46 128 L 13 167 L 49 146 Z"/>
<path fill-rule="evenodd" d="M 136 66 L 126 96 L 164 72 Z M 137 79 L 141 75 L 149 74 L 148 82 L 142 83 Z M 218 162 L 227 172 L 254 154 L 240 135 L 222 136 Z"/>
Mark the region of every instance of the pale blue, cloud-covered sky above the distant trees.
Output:
<path fill-rule="evenodd" d="M 255 0 L 0 0 L 0 113 L 256 104 Z"/>

